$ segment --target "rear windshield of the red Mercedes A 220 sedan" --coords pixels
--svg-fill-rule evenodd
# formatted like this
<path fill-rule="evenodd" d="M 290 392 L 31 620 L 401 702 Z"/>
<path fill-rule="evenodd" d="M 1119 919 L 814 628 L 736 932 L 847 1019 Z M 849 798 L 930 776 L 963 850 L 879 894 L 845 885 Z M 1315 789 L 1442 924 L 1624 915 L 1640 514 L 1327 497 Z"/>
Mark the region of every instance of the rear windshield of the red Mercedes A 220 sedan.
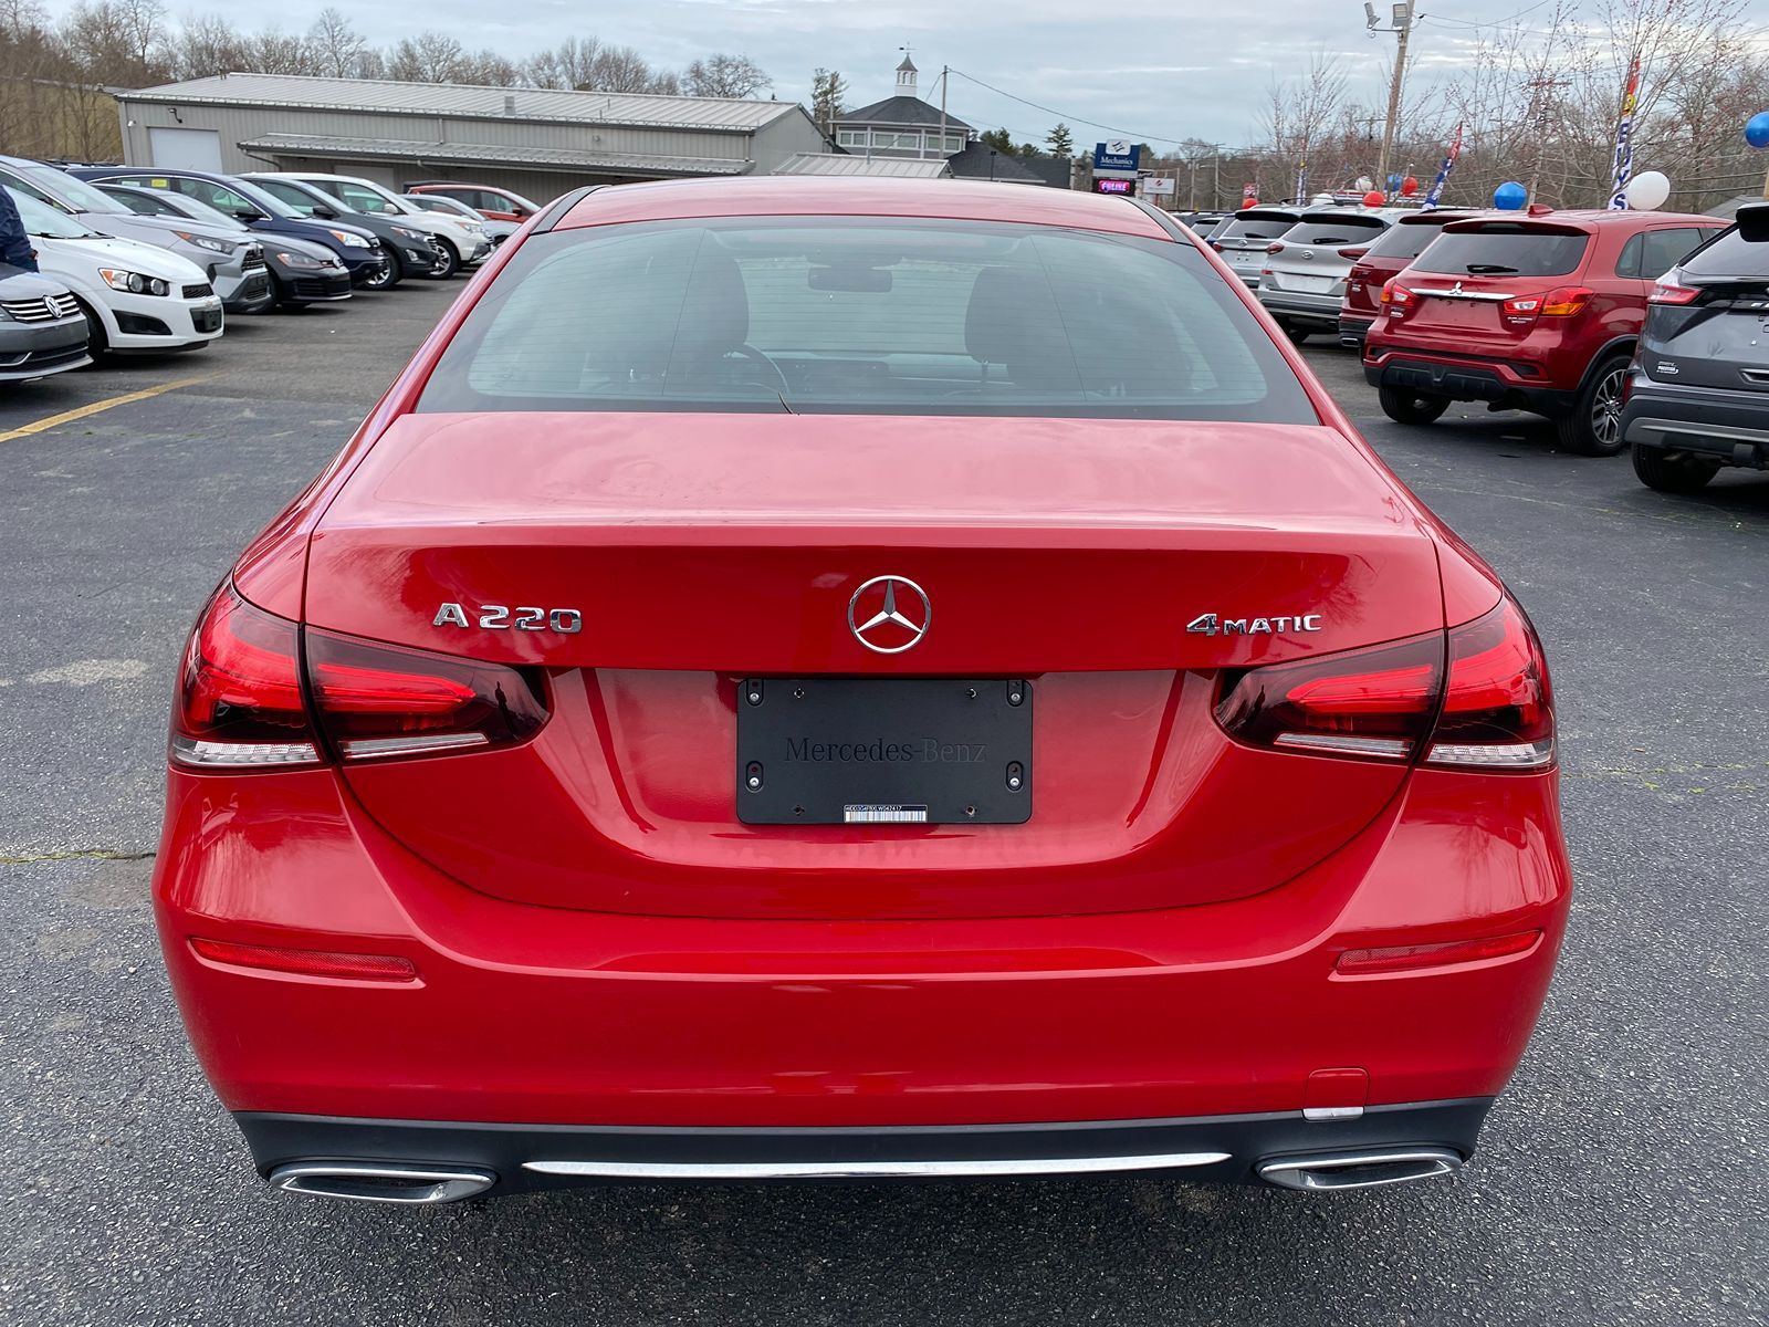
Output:
<path fill-rule="evenodd" d="M 1189 244 L 876 218 L 534 235 L 417 409 L 1318 423 Z"/>

